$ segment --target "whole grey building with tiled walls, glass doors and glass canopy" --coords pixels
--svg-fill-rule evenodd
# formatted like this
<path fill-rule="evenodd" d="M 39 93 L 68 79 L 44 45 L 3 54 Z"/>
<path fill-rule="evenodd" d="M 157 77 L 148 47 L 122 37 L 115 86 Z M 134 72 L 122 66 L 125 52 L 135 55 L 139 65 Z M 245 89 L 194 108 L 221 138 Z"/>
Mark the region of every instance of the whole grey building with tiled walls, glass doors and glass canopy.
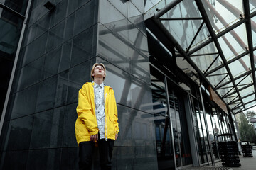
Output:
<path fill-rule="evenodd" d="M 218 135 L 237 140 L 235 114 L 256 106 L 255 7 L 0 1 L 0 169 L 78 169 L 75 108 L 95 62 L 117 100 L 113 169 L 215 164 Z"/>

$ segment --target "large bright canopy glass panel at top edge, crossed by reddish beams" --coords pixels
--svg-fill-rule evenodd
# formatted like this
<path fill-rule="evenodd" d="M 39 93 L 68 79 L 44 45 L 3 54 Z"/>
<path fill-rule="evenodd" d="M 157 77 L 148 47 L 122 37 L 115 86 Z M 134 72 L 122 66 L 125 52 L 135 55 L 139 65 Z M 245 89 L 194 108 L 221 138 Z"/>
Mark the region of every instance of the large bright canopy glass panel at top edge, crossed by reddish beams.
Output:
<path fill-rule="evenodd" d="M 208 18 L 211 18 L 213 30 L 216 33 L 232 26 L 234 23 L 238 22 L 240 19 L 240 14 L 243 15 L 242 0 L 227 0 L 227 1 L 202 1 L 208 14 Z M 235 11 L 239 11 L 236 13 Z"/>

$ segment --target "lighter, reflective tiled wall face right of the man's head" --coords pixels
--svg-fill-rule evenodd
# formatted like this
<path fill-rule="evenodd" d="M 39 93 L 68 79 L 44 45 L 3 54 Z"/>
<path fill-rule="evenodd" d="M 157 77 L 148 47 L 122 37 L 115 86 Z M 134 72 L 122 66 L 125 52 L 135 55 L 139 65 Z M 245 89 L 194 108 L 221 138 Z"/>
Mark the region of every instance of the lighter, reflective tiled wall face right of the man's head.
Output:
<path fill-rule="evenodd" d="M 144 1 L 101 0 L 97 62 L 107 67 L 119 114 L 117 169 L 157 169 Z"/>

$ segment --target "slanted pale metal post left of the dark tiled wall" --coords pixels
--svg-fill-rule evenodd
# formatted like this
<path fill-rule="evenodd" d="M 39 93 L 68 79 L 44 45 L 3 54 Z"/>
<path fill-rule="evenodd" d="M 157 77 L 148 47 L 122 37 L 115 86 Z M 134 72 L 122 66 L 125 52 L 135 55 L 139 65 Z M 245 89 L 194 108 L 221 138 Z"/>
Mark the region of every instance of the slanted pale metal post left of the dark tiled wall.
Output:
<path fill-rule="evenodd" d="M 22 44 L 22 40 L 23 40 L 23 35 L 25 33 L 26 23 L 27 23 L 27 20 L 28 20 L 28 13 L 29 13 L 30 8 L 31 8 L 31 1 L 32 0 L 28 1 L 28 6 L 26 8 L 26 15 L 25 15 L 26 18 L 23 21 L 23 26 L 21 28 L 21 36 L 18 40 L 18 47 L 17 47 L 17 50 L 16 50 L 15 58 L 14 58 L 14 66 L 13 66 L 13 69 L 11 71 L 11 78 L 10 78 L 10 81 L 9 81 L 9 86 L 8 86 L 7 93 L 6 93 L 6 99 L 4 101 L 4 108 L 3 108 L 3 112 L 2 112 L 1 120 L 0 120 L 0 135 L 1 135 L 3 125 L 4 125 L 4 117 L 6 115 L 6 108 L 7 108 L 9 97 L 10 97 L 10 94 L 11 94 L 11 86 L 12 86 L 13 81 L 14 81 L 14 74 L 15 74 L 15 70 L 16 70 L 16 66 L 17 66 L 17 62 L 18 62 L 18 55 L 21 51 L 21 44 Z"/>

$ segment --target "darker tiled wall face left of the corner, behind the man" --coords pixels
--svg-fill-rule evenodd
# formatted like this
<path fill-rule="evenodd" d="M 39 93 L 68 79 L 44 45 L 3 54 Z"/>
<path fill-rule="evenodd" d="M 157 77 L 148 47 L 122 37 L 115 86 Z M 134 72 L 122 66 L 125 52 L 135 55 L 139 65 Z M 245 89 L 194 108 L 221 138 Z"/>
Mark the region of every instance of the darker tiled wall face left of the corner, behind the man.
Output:
<path fill-rule="evenodd" d="M 1 134 L 0 169 L 78 169 L 75 108 L 96 60 L 98 1 L 33 1 Z"/>

